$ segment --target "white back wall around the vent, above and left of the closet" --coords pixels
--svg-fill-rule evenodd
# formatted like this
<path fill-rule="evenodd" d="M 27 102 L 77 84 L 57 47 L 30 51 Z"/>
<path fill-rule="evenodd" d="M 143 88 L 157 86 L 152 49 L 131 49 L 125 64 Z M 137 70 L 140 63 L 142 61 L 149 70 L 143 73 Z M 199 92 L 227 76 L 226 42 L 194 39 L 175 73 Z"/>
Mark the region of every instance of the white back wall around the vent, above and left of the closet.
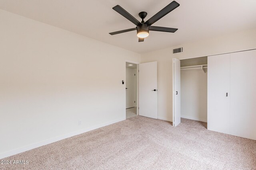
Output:
<path fill-rule="evenodd" d="M 256 49 L 255 39 L 256 29 L 244 30 L 177 46 L 183 47 L 183 53 L 172 54 L 176 47 L 170 47 L 142 54 L 141 63 L 158 61 L 158 118 L 172 121 L 172 58 L 189 59 Z"/>

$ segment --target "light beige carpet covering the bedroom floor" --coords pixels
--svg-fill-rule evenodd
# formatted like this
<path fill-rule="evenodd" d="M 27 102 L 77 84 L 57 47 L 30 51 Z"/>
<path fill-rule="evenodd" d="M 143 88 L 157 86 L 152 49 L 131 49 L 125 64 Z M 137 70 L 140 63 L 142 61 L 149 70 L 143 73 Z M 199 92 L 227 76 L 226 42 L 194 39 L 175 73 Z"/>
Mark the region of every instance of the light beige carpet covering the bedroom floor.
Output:
<path fill-rule="evenodd" d="M 206 123 L 136 116 L 4 160 L 1 169 L 256 169 L 256 141 L 206 129 Z"/>

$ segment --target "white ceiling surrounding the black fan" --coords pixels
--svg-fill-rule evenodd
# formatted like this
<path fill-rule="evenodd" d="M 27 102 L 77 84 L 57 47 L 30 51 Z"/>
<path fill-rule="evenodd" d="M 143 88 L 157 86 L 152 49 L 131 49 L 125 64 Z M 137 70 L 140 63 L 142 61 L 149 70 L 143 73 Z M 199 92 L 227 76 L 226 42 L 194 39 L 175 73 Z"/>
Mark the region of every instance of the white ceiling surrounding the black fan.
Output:
<path fill-rule="evenodd" d="M 148 20 L 172 0 L 0 0 L 0 8 L 54 25 L 136 53 L 146 53 L 256 27 L 256 0 L 176 0 L 180 6 L 154 23 L 178 28 L 175 33 L 150 31 L 138 43 L 136 31 L 109 32 L 136 27 L 112 10 L 117 4 L 137 20 Z"/>

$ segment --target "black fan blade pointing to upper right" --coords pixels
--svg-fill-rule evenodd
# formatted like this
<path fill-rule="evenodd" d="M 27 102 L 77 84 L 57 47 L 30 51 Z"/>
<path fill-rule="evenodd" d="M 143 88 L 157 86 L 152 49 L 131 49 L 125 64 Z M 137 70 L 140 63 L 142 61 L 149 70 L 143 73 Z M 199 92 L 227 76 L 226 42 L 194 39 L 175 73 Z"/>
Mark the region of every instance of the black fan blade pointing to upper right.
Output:
<path fill-rule="evenodd" d="M 160 10 L 158 13 L 156 13 L 154 16 L 152 16 L 150 19 L 148 19 L 148 21 L 146 21 L 145 23 L 148 25 L 152 25 L 153 23 L 160 20 L 162 17 L 164 17 L 166 14 L 168 14 L 169 12 L 171 12 L 178 6 L 180 6 L 180 4 L 178 2 L 172 1 L 169 5 L 164 7 L 162 10 Z"/>

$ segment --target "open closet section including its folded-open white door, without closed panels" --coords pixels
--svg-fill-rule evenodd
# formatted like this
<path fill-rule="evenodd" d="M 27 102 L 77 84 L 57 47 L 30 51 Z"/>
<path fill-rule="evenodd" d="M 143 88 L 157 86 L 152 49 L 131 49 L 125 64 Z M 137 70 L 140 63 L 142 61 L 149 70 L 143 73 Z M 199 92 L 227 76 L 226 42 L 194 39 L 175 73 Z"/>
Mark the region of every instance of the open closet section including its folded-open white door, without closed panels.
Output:
<path fill-rule="evenodd" d="M 207 123 L 207 57 L 173 59 L 173 125 L 181 118 Z"/>

